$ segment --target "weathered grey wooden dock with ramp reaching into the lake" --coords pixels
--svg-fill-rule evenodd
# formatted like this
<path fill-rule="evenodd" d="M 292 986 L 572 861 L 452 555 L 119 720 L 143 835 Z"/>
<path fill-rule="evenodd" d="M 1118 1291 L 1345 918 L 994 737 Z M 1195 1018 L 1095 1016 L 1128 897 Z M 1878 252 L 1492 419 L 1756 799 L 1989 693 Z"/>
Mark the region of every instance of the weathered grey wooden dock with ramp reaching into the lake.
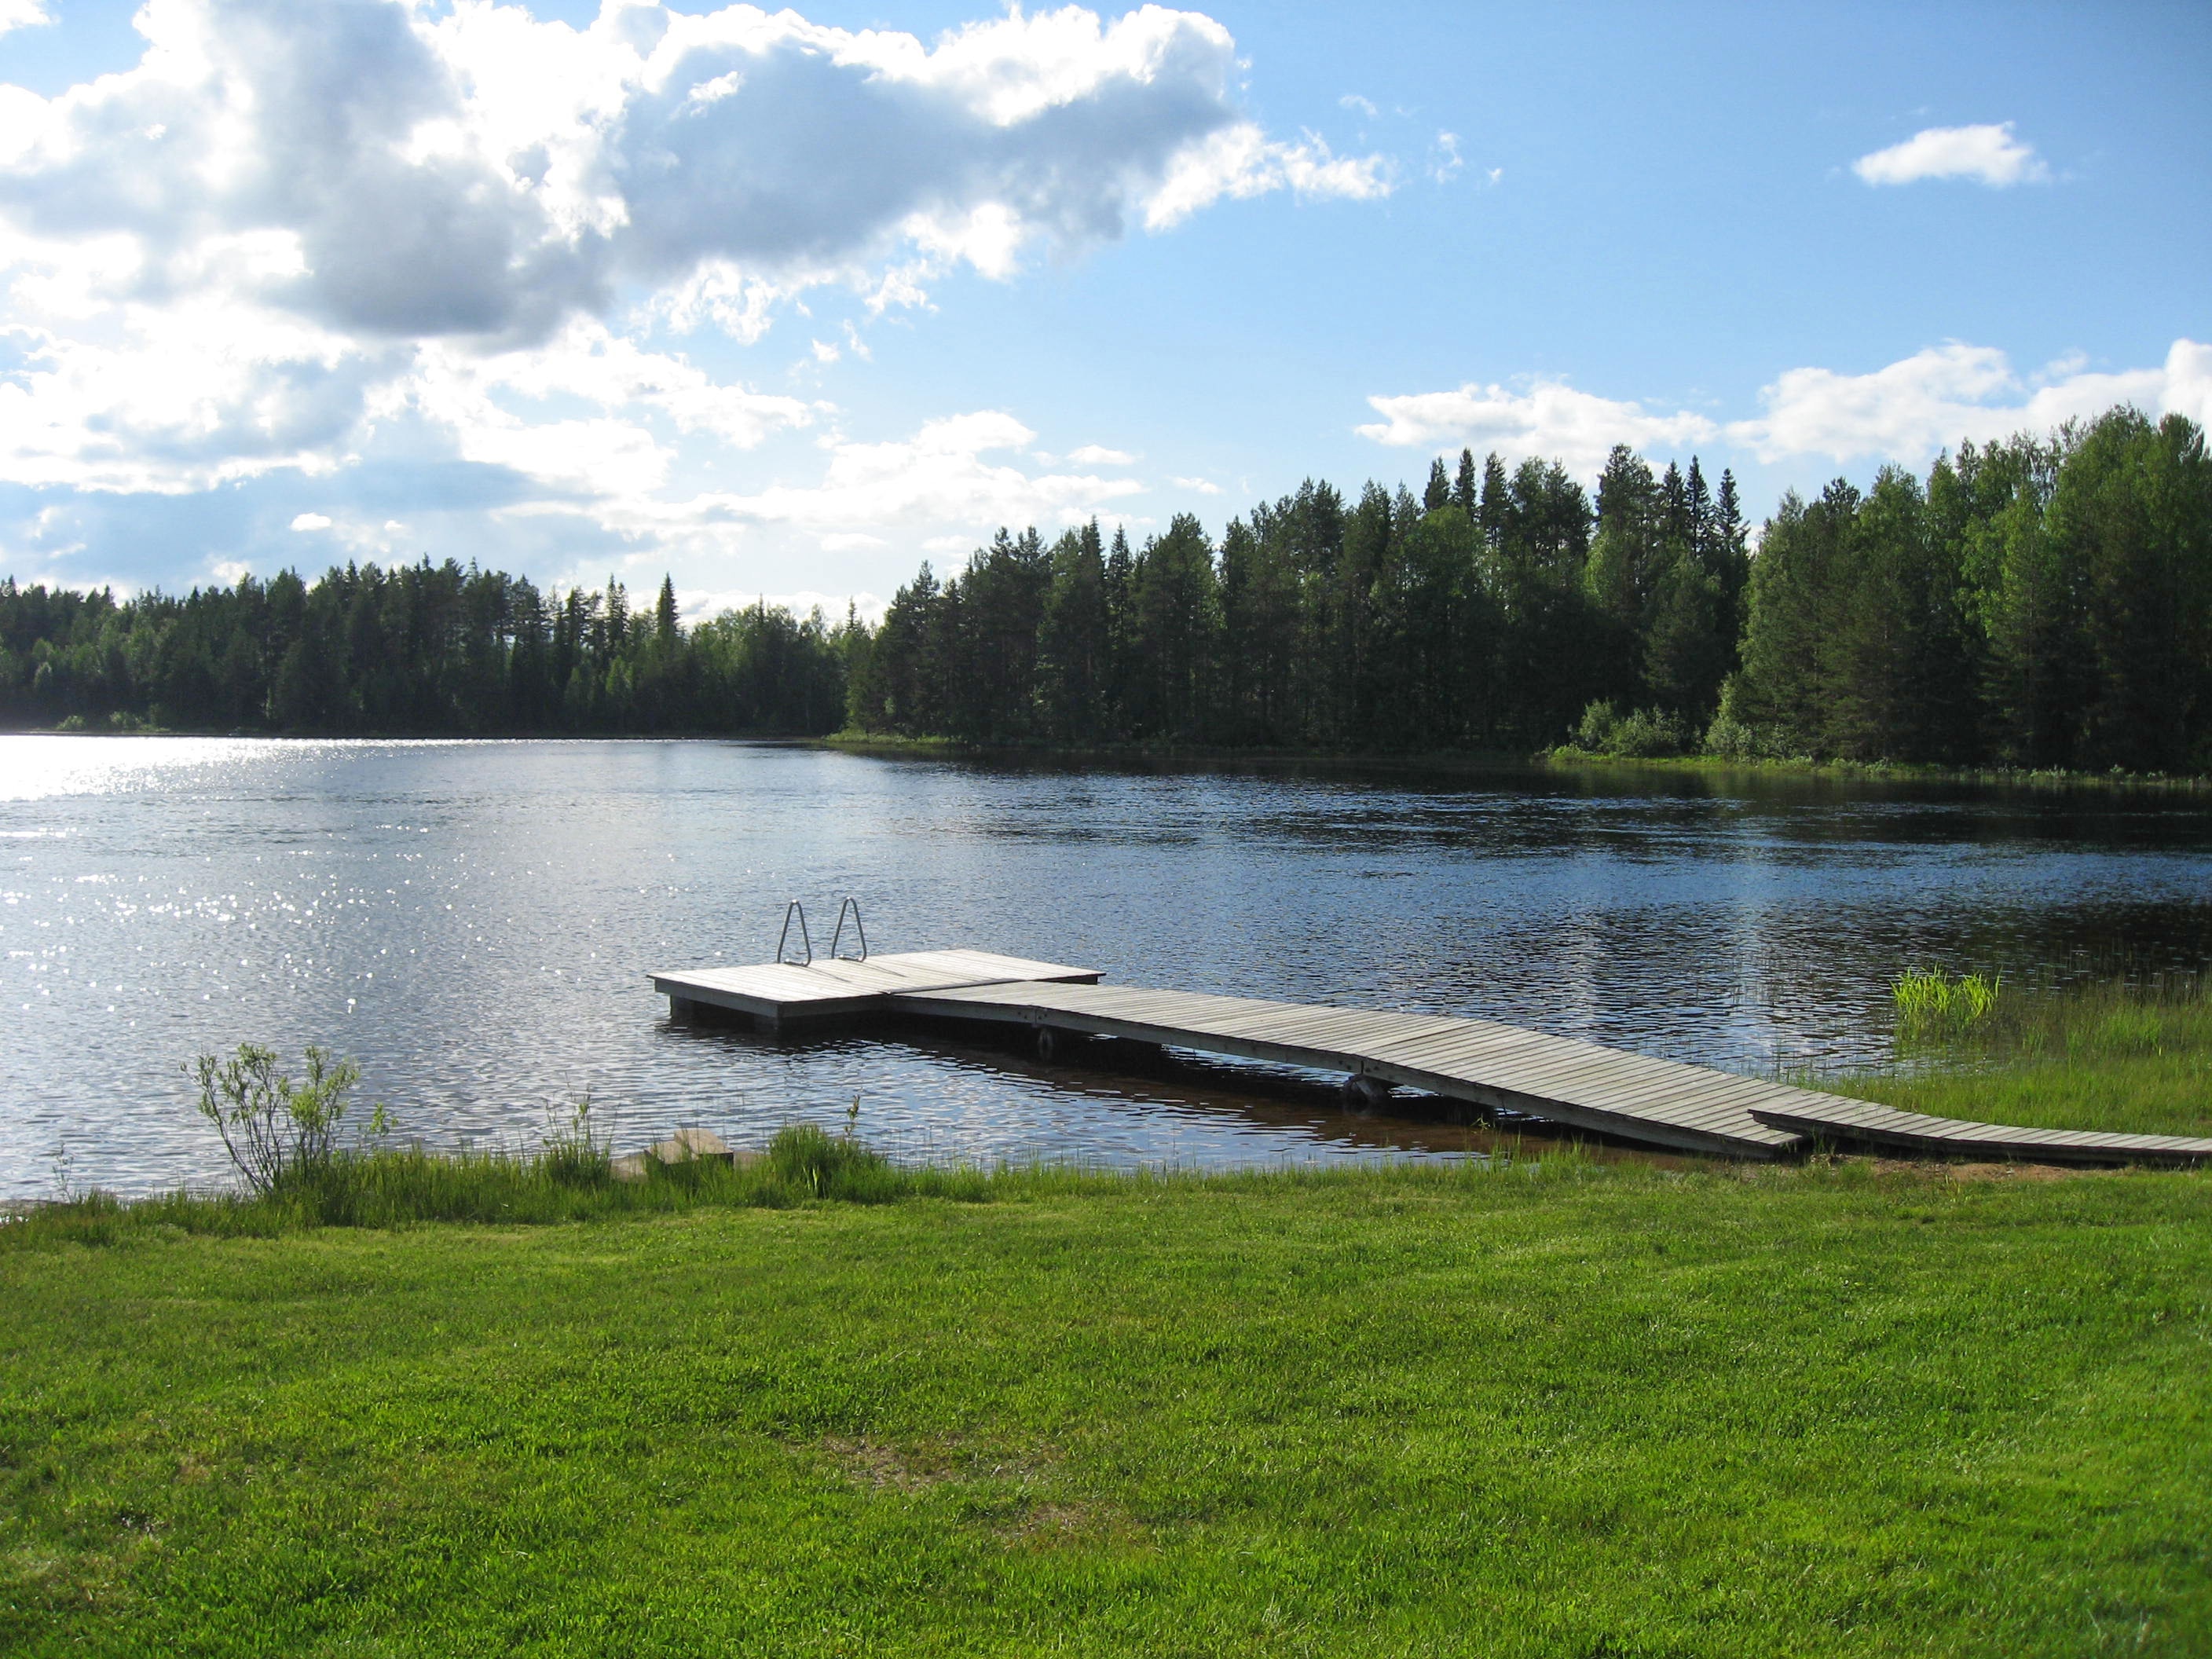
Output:
<path fill-rule="evenodd" d="M 1099 984 L 1095 969 L 991 951 L 911 951 L 650 978 L 677 1013 L 686 1004 L 710 1004 L 768 1029 L 876 1013 L 1128 1037 L 1345 1073 L 1347 1086 L 1374 1099 L 1402 1084 L 1677 1152 L 1776 1159 L 1816 1144 L 1847 1144 L 1916 1157 L 2042 1164 L 2212 1161 L 2212 1139 L 1918 1117 L 1491 1020 L 1146 991 Z"/>

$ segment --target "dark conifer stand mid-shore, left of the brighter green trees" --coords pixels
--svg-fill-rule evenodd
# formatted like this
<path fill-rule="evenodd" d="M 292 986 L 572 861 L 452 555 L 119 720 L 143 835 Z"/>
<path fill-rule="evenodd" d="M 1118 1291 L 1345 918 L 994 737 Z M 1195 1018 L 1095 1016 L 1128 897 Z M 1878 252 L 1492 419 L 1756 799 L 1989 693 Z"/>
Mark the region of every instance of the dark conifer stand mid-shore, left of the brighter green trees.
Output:
<path fill-rule="evenodd" d="M 973 741 L 1531 748 L 1593 697 L 1708 710 L 1750 560 L 1736 487 L 1615 451 L 1588 493 L 1557 462 L 1425 493 L 1298 487 L 1130 549 L 1097 524 L 1000 531 L 925 564 L 854 655 L 852 719 Z"/>

